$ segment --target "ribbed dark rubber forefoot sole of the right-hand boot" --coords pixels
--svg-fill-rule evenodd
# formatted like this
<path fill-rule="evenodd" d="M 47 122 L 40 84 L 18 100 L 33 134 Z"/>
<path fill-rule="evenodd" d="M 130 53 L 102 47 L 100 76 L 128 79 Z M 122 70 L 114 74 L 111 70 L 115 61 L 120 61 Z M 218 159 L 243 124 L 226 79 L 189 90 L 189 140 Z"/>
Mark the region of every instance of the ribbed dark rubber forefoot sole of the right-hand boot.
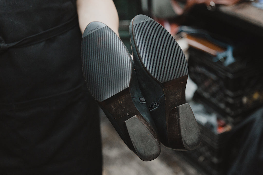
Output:
<path fill-rule="evenodd" d="M 143 66 L 159 82 L 188 75 L 183 51 L 159 23 L 141 15 L 134 18 L 133 32 Z"/>

